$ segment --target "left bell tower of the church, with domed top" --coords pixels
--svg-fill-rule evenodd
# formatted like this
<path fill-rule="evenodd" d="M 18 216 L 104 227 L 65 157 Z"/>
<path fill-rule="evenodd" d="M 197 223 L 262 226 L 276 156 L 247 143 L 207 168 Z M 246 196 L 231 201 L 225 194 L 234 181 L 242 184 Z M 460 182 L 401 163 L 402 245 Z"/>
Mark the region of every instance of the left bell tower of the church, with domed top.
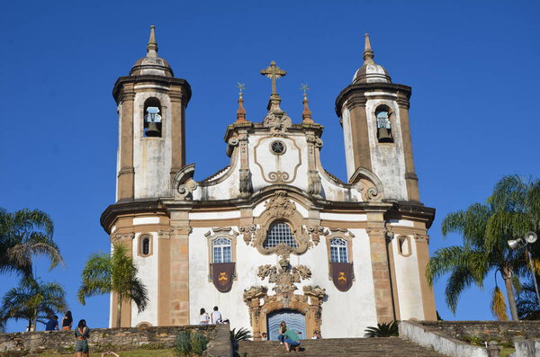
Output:
<path fill-rule="evenodd" d="M 116 201 L 170 195 L 171 181 L 185 165 L 185 108 L 191 87 L 175 78 L 157 56 L 155 26 L 147 55 L 118 78 L 112 89 L 119 116 Z"/>

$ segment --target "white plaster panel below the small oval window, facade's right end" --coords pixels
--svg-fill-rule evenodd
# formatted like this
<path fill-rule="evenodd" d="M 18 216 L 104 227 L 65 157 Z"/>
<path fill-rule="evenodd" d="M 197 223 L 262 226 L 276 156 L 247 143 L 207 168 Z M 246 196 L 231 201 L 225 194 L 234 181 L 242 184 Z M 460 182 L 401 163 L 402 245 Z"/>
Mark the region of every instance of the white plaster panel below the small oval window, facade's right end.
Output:
<path fill-rule="evenodd" d="M 393 258 L 396 269 L 396 285 L 398 298 L 400 299 L 401 320 L 410 318 L 424 319 L 424 308 L 420 294 L 419 264 L 416 244 L 412 236 L 410 239 L 409 256 L 403 256 L 399 252 L 399 242 L 396 236 L 392 239 Z"/>

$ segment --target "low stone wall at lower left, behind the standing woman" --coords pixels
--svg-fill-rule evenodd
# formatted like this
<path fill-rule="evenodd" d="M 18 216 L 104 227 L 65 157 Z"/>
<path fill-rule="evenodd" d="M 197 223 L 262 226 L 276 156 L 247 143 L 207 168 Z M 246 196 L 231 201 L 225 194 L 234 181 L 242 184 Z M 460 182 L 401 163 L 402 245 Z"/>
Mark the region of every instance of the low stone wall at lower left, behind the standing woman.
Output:
<path fill-rule="evenodd" d="M 90 330 L 88 344 L 91 352 L 126 351 L 138 349 L 172 348 L 180 331 L 198 331 L 211 343 L 218 329 L 229 331 L 228 325 L 208 326 L 157 326 L 95 328 Z M 224 334 L 220 334 L 223 336 Z M 229 339 L 229 334 L 226 334 Z M 74 331 L 38 331 L 0 334 L 0 357 L 25 353 L 73 353 Z M 9 353 L 9 354 L 8 354 Z"/>

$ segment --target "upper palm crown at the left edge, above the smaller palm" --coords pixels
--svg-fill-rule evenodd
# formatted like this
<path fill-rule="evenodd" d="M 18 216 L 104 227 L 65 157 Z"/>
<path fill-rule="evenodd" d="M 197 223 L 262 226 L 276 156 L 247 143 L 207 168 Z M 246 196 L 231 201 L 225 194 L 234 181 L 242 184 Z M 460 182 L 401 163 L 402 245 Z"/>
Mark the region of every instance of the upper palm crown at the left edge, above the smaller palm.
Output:
<path fill-rule="evenodd" d="M 62 263 L 58 245 L 52 240 L 54 225 L 40 210 L 0 208 L 0 272 L 31 274 L 32 258 L 45 255 L 50 269 Z"/>

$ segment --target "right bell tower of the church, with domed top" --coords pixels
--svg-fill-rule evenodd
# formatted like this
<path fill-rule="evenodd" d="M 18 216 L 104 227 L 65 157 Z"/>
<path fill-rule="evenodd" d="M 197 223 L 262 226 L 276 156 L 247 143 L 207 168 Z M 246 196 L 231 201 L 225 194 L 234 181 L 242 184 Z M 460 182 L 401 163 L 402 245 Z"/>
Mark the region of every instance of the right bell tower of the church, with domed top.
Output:
<path fill-rule="evenodd" d="M 384 198 L 419 201 L 409 125 L 410 87 L 396 85 L 386 69 L 375 64 L 365 35 L 364 65 L 338 95 L 347 160 L 347 178 L 358 168 L 374 172 L 384 186 Z"/>

